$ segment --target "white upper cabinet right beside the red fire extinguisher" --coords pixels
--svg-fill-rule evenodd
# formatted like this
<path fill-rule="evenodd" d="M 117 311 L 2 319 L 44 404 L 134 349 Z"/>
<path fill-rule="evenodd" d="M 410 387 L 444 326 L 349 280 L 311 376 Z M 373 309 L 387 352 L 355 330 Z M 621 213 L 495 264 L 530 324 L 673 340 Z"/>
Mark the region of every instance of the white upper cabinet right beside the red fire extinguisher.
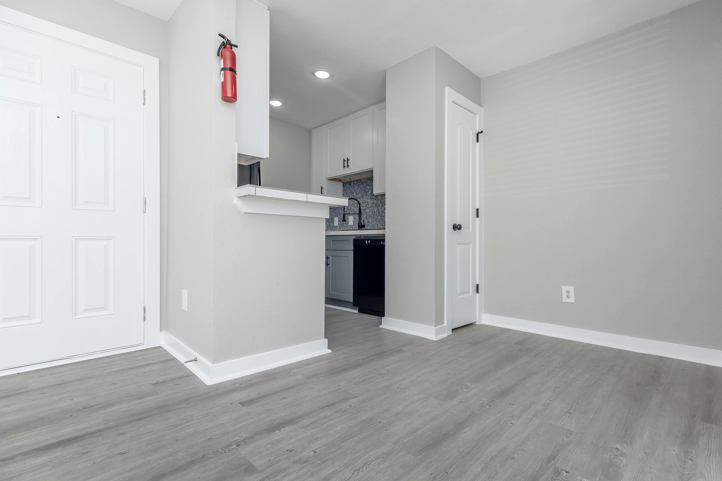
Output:
<path fill-rule="evenodd" d="M 256 0 L 236 0 L 235 138 L 238 162 L 269 156 L 269 9 Z"/>

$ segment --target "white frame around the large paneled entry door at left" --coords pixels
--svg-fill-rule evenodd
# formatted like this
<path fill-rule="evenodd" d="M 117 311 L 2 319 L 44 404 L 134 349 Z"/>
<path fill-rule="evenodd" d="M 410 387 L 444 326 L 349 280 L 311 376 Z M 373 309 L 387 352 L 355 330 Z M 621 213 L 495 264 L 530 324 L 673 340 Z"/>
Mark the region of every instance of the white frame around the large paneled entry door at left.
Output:
<path fill-rule="evenodd" d="M 33 364 L 32 366 L 6 369 L 0 371 L 0 376 L 160 345 L 160 83 L 158 79 L 158 59 L 47 20 L 32 17 L 32 15 L 17 12 L 17 10 L 9 9 L 6 6 L 0 6 L 0 24 L 84 48 L 85 50 L 100 53 L 100 55 L 116 58 L 143 69 L 145 89 L 143 151 L 144 193 L 146 198 L 144 216 L 144 297 L 146 306 L 144 343 L 131 348 L 107 350 L 101 353 L 91 353 Z M 143 92 L 138 92 L 139 96 L 142 94 Z M 139 199 L 138 208 L 142 208 L 141 202 L 142 200 Z"/>

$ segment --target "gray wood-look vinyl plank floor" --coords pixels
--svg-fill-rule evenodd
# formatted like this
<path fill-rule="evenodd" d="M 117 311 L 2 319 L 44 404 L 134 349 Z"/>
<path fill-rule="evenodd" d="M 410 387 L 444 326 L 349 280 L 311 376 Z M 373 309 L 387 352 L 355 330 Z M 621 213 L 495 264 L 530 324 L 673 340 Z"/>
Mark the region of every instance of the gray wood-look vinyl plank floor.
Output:
<path fill-rule="evenodd" d="M 0 480 L 722 480 L 720 368 L 379 323 L 214 386 L 162 348 L 0 377 Z"/>

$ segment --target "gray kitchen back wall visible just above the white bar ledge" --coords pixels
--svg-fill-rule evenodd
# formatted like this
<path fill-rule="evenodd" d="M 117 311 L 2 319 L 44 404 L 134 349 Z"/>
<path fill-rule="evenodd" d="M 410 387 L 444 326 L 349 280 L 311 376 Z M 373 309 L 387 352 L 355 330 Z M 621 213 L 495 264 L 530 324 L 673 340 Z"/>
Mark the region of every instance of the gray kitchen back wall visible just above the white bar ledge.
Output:
<path fill-rule="evenodd" d="M 269 157 L 261 160 L 261 182 L 267 187 L 310 190 L 311 131 L 271 118 Z"/>

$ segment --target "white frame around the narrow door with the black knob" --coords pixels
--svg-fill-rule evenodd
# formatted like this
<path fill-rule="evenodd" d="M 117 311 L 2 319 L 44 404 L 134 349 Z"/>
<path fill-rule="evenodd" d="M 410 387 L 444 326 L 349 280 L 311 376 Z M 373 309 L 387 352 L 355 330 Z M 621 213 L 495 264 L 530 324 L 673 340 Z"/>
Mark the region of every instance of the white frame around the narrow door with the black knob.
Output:
<path fill-rule="evenodd" d="M 444 105 L 444 325 L 446 327 L 446 335 L 451 334 L 451 322 L 449 319 L 449 306 L 448 302 L 448 226 L 449 219 L 447 219 L 446 202 L 448 200 L 448 185 L 446 178 L 448 177 L 448 158 L 449 158 L 449 111 L 453 104 L 459 105 L 460 107 L 469 110 L 469 112 L 477 114 L 477 127 L 479 131 L 483 130 L 484 127 L 484 109 L 479 105 L 471 102 L 471 100 L 464 97 L 464 95 L 456 92 L 450 87 L 445 88 L 445 105 Z M 482 199 L 484 198 L 484 160 L 483 160 L 483 149 L 481 138 L 477 144 L 477 159 L 479 165 L 477 165 L 477 206 L 479 206 L 479 219 L 477 219 L 477 262 L 479 263 L 477 269 L 477 276 L 479 277 L 479 294 L 477 295 L 477 320 L 474 324 L 482 323 L 482 312 L 484 312 L 484 262 L 483 252 L 484 248 L 482 243 L 484 242 L 484 206 Z"/>

